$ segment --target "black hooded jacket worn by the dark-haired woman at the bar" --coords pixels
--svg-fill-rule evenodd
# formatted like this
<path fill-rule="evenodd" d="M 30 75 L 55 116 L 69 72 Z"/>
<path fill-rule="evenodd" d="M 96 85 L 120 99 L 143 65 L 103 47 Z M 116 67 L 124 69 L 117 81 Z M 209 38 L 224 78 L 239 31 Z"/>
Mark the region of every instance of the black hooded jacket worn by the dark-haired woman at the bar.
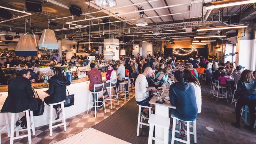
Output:
<path fill-rule="evenodd" d="M 58 74 L 52 76 L 49 79 L 49 89 L 46 90 L 47 96 L 45 98 L 45 103 L 58 103 L 65 100 L 66 94 L 66 86 L 70 85 L 70 82 L 67 80 L 66 76 L 62 74 Z"/>

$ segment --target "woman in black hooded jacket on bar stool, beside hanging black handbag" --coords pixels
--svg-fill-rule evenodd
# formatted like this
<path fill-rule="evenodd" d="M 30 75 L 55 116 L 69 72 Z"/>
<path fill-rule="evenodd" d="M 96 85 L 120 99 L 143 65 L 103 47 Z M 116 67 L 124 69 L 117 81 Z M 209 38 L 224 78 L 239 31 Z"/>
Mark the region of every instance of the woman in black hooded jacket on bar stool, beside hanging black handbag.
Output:
<path fill-rule="evenodd" d="M 65 100 L 67 96 L 66 87 L 67 85 L 70 85 L 70 82 L 67 80 L 66 76 L 61 74 L 61 68 L 53 67 L 52 73 L 54 76 L 49 79 L 49 89 L 46 90 L 46 93 L 50 94 L 50 96 L 47 96 L 44 99 L 47 105 L 49 105 L 49 103 L 58 103 Z M 53 107 L 56 110 L 56 120 L 58 120 L 59 114 L 61 113 L 61 106 L 54 105 Z"/>

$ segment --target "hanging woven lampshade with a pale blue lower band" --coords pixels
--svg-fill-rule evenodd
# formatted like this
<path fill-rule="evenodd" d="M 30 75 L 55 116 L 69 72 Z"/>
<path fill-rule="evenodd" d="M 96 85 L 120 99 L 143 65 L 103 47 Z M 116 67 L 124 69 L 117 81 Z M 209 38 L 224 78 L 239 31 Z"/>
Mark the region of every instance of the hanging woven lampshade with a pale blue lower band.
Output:
<path fill-rule="evenodd" d="M 39 41 L 39 49 L 47 48 L 51 50 L 58 50 L 59 44 L 55 37 L 55 33 L 53 30 L 45 29 Z"/>

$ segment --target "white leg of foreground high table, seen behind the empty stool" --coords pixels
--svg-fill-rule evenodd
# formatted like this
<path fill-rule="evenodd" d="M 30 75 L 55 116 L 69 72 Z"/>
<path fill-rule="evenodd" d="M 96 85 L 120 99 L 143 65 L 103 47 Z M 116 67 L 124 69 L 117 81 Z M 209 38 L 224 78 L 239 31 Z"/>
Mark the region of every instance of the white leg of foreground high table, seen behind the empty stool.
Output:
<path fill-rule="evenodd" d="M 169 107 L 156 105 L 156 114 L 169 118 Z M 164 129 L 162 127 L 155 126 L 155 138 L 164 140 Z M 155 144 L 162 144 L 162 142 L 156 140 Z"/>

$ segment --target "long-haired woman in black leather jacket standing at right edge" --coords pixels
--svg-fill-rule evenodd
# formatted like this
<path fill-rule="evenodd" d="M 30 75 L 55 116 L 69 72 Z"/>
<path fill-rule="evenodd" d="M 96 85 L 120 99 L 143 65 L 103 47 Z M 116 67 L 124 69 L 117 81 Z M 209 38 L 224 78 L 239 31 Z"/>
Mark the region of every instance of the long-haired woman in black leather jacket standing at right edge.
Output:
<path fill-rule="evenodd" d="M 253 131 L 253 125 L 256 119 L 256 79 L 254 79 L 250 70 L 244 70 L 242 72 L 241 77 L 237 82 L 234 102 L 237 102 L 236 122 L 232 122 L 232 125 L 235 127 L 240 127 L 240 109 L 244 105 L 248 105 L 250 112 L 250 126 L 247 126 L 247 128 L 250 131 Z"/>

